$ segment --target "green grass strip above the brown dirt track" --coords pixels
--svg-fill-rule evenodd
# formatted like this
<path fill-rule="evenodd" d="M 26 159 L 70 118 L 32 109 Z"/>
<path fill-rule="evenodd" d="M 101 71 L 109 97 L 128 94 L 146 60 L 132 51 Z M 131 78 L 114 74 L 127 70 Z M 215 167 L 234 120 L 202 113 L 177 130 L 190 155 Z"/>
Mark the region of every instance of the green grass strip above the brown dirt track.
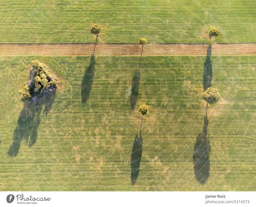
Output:
<path fill-rule="evenodd" d="M 0 42 L 94 42 L 90 26 L 99 23 L 98 39 L 108 43 L 208 42 L 217 27 L 217 42 L 255 42 L 256 4 L 252 0 L 3 0 Z"/>

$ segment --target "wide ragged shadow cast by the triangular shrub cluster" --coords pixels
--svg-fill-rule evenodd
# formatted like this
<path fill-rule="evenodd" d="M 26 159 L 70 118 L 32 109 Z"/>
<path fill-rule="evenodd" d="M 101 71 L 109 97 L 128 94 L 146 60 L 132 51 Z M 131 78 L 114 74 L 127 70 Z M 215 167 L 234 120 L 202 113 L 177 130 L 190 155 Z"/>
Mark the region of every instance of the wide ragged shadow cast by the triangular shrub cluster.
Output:
<path fill-rule="evenodd" d="M 42 110 L 44 108 L 44 113 L 47 114 L 52 108 L 54 99 L 55 93 L 40 102 L 24 104 L 12 135 L 13 142 L 8 151 L 9 156 L 17 156 L 23 139 L 29 147 L 36 143 Z"/>

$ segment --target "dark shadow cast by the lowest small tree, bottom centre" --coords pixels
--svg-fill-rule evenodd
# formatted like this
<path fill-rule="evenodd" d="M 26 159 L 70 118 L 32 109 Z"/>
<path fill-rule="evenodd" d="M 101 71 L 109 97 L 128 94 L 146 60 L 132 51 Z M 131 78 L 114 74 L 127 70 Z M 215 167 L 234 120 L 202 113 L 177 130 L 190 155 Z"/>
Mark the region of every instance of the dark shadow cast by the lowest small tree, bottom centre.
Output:
<path fill-rule="evenodd" d="M 138 179 L 140 172 L 140 161 L 142 156 L 142 136 L 138 137 L 138 133 L 135 136 L 132 147 L 132 155 L 131 155 L 131 181 L 132 185 Z"/>

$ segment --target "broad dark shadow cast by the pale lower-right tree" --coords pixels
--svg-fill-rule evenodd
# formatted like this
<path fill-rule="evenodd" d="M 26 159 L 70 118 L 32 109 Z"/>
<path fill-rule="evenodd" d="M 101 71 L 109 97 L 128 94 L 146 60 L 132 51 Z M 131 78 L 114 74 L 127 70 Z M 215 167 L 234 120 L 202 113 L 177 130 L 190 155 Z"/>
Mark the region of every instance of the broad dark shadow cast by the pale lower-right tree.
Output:
<path fill-rule="evenodd" d="M 210 152 L 211 145 L 210 140 L 207 137 L 208 118 L 204 117 L 204 126 L 202 133 L 196 137 L 196 144 L 194 146 L 193 162 L 194 162 L 194 173 L 196 180 L 201 184 L 204 184 L 210 173 Z"/>

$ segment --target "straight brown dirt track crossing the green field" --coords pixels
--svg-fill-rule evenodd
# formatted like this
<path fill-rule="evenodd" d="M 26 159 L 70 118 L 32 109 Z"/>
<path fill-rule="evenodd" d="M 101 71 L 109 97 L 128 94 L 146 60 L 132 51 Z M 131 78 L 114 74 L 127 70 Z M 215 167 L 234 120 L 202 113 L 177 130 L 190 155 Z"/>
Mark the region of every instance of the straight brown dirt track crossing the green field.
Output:
<path fill-rule="evenodd" d="M 0 43 L 1 56 L 44 55 L 92 55 L 94 43 Z M 209 44 L 147 44 L 143 55 L 206 55 Z M 256 43 L 212 44 L 212 55 L 256 55 Z M 141 46 L 129 43 L 100 43 L 94 55 L 140 55 Z"/>

